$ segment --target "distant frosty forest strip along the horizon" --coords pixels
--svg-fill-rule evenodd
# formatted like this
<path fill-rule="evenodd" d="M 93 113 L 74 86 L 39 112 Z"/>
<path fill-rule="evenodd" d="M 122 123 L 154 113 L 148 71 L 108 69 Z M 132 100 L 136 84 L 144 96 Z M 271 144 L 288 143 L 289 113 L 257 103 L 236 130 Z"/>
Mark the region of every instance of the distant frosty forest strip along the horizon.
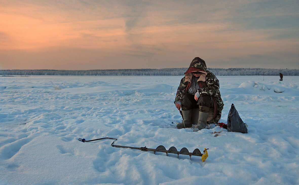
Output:
<path fill-rule="evenodd" d="M 103 69 L 103 70 L 0 70 L 0 75 L 61 75 L 61 76 L 181 76 L 187 68 Z M 216 76 L 279 75 L 299 76 L 298 69 L 208 68 Z"/>

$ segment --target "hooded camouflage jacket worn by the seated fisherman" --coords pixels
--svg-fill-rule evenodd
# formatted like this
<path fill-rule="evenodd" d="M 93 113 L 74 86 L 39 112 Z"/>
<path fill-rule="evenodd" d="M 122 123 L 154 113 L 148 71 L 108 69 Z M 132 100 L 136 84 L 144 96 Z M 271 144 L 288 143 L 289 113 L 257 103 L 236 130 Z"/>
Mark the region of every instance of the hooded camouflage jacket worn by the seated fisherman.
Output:
<path fill-rule="evenodd" d="M 183 95 L 187 93 L 188 88 L 190 87 L 191 79 L 193 77 L 193 74 L 191 72 L 195 71 L 199 71 L 202 73 L 197 83 L 202 83 L 203 85 L 200 84 L 200 88 L 197 91 L 199 92 L 200 96 L 208 95 L 212 97 L 214 103 L 216 102 L 217 104 L 216 115 L 220 117 L 224 104 L 219 91 L 219 80 L 212 72 L 207 70 L 205 61 L 199 57 L 193 59 L 190 67 L 185 72 L 185 77 L 181 79 L 174 102 L 182 101 Z M 216 104 L 214 105 L 216 106 Z"/>

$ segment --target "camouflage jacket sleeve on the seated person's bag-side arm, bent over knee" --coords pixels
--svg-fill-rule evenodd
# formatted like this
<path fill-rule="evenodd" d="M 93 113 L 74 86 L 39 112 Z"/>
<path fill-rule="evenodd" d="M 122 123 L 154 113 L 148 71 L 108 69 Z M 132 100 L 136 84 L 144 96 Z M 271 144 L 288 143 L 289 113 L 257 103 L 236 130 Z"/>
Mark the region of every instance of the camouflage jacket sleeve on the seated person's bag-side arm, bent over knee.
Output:
<path fill-rule="evenodd" d="M 200 96 L 215 96 L 219 91 L 219 80 L 215 77 L 214 74 L 210 74 L 207 75 L 205 82 L 207 84 L 207 87 L 198 89 Z"/>

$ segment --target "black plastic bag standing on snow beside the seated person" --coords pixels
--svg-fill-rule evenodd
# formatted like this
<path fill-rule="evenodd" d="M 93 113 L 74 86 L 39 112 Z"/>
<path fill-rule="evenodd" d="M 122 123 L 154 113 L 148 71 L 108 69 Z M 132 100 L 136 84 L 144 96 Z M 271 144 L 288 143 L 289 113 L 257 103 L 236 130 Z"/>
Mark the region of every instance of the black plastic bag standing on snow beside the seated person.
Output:
<path fill-rule="evenodd" d="M 229 110 L 227 117 L 227 129 L 228 132 L 241 132 L 247 133 L 247 128 L 245 123 L 239 116 L 238 111 L 236 110 L 234 104 L 231 104 L 231 109 Z"/>

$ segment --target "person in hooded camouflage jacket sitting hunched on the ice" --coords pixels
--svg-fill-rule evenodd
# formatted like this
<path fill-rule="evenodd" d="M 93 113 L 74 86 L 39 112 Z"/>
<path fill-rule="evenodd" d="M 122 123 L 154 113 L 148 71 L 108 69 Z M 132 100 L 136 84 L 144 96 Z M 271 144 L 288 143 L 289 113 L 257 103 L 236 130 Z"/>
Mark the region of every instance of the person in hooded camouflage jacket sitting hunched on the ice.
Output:
<path fill-rule="evenodd" d="M 184 120 L 176 127 L 182 129 L 194 124 L 196 131 L 205 129 L 208 123 L 218 123 L 224 106 L 219 80 L 199 57 L 192 60 L 184 74 L 174 101 L 176 108 L 182 110 Z"/>

